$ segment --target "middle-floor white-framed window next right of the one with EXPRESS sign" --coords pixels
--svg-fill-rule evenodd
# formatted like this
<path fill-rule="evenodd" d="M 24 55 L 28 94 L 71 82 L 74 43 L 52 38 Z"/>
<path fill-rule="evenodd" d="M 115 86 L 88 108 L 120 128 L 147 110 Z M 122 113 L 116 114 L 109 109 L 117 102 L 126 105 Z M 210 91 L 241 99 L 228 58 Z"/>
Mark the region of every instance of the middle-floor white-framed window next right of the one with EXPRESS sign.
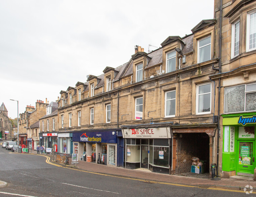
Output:
<path fill-rule="evenodd" d="M 165 92 L 165 117 L 175 116 L 176 90 Z"/>

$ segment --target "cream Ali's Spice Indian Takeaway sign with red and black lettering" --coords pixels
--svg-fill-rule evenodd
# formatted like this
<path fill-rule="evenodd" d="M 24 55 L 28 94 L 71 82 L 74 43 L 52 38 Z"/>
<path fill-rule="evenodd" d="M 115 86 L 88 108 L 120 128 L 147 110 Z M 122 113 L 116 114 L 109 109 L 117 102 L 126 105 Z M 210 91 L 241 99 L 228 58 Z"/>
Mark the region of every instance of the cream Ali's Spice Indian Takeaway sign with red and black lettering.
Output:
<path fill-rule="evenodd" d="M 123 138 L 171 138 L 170 128 L 122 129 Z"/>

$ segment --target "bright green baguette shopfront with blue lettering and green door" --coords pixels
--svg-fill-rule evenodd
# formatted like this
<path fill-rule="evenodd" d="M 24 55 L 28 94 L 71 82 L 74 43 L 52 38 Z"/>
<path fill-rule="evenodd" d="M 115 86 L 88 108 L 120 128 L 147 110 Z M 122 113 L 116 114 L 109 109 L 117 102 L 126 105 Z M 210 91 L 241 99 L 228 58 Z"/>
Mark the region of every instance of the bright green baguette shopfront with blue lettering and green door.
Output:
<path fill-rule="evenodd" d="M 254 177 L 256 113 L 223 114 L 223 175 Z"/>

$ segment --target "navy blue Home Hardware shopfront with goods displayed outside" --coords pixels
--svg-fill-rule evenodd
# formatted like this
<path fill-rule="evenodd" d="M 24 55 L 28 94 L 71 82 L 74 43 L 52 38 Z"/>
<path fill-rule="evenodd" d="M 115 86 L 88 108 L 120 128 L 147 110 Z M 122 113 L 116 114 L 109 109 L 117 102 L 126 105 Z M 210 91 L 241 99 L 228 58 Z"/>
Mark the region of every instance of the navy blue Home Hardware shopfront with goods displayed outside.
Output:
<path fill-rule="evenodd" d="M 73 152 L 85 161 L 124 166 L 121 129 L 73 132 Z"/>

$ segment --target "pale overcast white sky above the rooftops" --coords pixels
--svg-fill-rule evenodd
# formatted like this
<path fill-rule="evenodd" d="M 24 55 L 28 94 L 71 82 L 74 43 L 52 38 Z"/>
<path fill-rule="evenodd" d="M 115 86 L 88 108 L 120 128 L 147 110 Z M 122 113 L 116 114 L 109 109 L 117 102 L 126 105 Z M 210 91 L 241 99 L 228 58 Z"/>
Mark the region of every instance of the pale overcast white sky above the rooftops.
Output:
<path fill-rule="evenodd" d="M 8 116 L 214 17 L 214 0 L 0 1 L 0 105 Z M 157 48 L 151 47 L 151 50 Z"/>

